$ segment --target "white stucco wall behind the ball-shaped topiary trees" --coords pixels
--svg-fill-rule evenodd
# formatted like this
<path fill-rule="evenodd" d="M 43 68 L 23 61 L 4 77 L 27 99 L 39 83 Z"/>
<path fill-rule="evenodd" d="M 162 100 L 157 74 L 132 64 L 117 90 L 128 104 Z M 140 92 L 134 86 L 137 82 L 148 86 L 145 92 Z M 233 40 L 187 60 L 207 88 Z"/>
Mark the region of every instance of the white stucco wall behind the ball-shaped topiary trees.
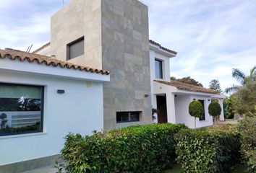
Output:
<path fill-rule="evenodd" d="M 208 106 L 210 104 L 210 96 L 199 95 L 196 93 L 190 94 L 179 94 L 175 97 L 175 113 L 176 113 L 176 123 L 184 123 L 189 128 L 195 128 L 195 117 L 189 115 L 189 103 L 193 99 L 205 100 L 205 120 L 199 120 L 196 118 L 197 128 L 213 125 L 213 117 L 208 113 Z"/>

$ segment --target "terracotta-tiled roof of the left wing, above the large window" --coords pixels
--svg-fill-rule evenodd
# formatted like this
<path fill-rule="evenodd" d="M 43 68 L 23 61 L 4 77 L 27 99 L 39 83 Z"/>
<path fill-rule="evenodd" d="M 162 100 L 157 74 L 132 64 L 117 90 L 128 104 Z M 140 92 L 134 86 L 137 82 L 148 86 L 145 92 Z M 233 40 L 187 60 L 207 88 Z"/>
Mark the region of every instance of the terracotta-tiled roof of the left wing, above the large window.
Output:
<path fill-rule="evenodd" d="M 11 60 L 19 60 L 21 62 L 28 61 L 33 63 L 34 61 L 38 64 L 46 64 L 46 66 L 54 66 L 54 67 L 61 67 L 61 68 L 68 68 L 68 69 L 75 69 L 80 71 L 86 71 L 96 74 L 109 74 L 109 71 L 97 69 L 97 68 L 90 68 L 87 66 L 78 66 L 74 63 L 69 63 L 65 61 L 59 61 L 56 58 L 51 56 L 41 56 L 35 53 L 27 53 L 20 50 L 14 50 L 6 48 L 5 50 L 0 49 L 0 59 L 1 58 L 9 58 Z"/>

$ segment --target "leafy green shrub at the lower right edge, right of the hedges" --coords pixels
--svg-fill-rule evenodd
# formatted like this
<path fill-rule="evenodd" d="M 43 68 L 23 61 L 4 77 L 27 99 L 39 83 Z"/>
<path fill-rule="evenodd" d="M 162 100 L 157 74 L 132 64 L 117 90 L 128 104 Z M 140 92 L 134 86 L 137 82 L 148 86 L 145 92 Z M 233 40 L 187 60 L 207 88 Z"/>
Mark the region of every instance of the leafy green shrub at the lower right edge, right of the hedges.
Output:
<path fill-rule="evenodd" d="M 244 117 L 238 125 L 241 134 L 241 154 L 248 172 L 256 172 L 256 117 Z"/>

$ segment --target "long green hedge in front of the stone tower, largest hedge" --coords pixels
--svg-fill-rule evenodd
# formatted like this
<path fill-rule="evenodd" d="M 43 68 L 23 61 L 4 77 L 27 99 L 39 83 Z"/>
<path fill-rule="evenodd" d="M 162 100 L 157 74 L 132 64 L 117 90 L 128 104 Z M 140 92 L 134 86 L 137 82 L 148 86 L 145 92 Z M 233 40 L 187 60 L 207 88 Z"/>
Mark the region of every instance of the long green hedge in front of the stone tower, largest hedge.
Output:
<path fill-rule="evenodd" d="M 161 172 L 176 158 L 174 134 L 185 125 L 136 125 L 66 136 L 59 170 L 66 172 Z"/>

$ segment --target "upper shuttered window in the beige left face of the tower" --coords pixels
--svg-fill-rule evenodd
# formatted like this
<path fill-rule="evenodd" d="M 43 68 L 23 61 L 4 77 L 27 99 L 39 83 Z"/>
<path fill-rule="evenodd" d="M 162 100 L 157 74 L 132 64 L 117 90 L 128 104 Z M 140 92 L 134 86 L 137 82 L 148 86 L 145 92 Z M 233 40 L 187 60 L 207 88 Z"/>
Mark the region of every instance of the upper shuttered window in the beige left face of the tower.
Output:
<path fill-rule="evenodd" d="M 67 45 L 67 60 L 85 54 L 85 39 L 80 37 Z"/>

